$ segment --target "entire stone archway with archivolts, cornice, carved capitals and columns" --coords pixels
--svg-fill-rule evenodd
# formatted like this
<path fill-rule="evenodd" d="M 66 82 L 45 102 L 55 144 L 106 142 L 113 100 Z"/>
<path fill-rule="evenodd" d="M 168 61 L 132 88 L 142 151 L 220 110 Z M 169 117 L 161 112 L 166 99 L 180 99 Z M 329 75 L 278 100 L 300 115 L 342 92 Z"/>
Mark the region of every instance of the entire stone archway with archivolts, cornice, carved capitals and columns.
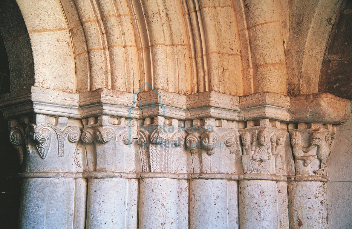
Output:
<path fill-rule="evenodd" d="M 8 4 L 31 53 L 0 96 L 19 228 L 328 227 L 351 108 L 316 92 L 341 1 Z"/>

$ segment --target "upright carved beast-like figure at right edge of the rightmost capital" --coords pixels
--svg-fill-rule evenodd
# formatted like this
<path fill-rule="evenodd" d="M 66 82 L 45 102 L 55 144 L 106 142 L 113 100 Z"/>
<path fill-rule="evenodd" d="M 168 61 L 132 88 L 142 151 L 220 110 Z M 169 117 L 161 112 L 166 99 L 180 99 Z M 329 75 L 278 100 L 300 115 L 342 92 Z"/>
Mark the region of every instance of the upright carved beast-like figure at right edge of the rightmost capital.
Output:
<path fill-rule="evenodd" d="M 323 134 L 321 132 L 312 133 L 313 143 L 318 147 L 316 150 L 316 156 L 320 161 L 320 168 L 314 173 L 316 175 L 325 175 L 326 174 L 326 159 L 331 153 L 330 146 L 332 144 L 332 137 L 330 133 L 325 135 L 325 141 L 323 140 Z M 312 143 L 312 144 L 313 144 Z"/>

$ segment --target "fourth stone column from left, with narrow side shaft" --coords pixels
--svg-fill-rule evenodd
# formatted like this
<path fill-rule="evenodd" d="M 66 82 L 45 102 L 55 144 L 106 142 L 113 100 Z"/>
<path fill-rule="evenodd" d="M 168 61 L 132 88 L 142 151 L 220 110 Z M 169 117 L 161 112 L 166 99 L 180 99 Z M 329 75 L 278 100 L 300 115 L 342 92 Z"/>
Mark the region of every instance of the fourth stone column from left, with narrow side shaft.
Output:
<path fill-rule="evenodd" d="M 189 228 L 238 228 L 237 181 L 190 180 Z"/>

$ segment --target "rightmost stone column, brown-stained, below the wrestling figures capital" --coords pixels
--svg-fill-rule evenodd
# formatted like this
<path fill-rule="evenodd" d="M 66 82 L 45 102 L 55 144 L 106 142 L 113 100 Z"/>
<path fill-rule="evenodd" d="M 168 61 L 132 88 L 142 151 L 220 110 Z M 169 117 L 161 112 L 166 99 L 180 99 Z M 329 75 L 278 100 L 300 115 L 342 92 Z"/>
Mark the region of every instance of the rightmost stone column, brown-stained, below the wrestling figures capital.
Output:
<path fill-rule="evenodd" d="M 294 181 L 288 185 L 290 229 L 327 229 L 324 182 Z"/>

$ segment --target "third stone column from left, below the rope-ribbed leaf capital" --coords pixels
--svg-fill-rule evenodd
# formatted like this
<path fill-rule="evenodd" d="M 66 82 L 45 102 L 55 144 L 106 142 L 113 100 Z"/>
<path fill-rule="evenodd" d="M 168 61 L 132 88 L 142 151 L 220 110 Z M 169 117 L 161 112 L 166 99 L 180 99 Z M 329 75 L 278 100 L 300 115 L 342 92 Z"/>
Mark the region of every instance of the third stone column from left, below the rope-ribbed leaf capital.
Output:
<path fill-rule="evenodd" d="M 144 178 L 139 185 L 139 228 L 177 229 L 177 179 Z"/>

